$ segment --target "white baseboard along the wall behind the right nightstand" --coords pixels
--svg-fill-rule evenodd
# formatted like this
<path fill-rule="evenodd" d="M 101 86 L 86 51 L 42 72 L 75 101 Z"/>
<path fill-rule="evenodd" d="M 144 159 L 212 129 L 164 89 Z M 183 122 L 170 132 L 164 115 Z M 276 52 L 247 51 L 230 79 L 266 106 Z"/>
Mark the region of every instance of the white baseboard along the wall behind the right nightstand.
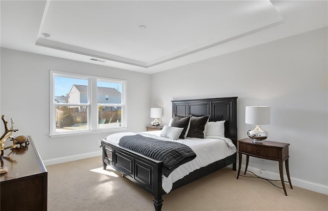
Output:
<path fill-rule="evenodd" d="M 251 171 L 254 174 L 256 174 L 257 176 L 260 176 L 263 178 L 280 180 L 280 175 L 277 173 L 274 173 L 274 172 L 264 171 L 264 170 L 260 170 L 260 169 L 253 168 L 250 166 L 247 168 L 247 170 Z M 237 171 L 238 171 L 238 163 L 237 163 Z M 240 174 L 244 174 L 244 171 L 245 171 L 245 165 L 241 165 Z M 284 180 L 288 181 L 287 175 L 283 175 L 283 176 L 284 176 Z M 310 181 L 298 179 L 295 177 L 291 177 L 291 182 L 292 182 L 293 186 L 295 185 L 297 187 L 301 187 L 302 189 L 306 189 L 306 190 L 310 190 L 310 191 L 328 195 L 328 186 L 327 185 L 318 184 L 315 182 L 310 182 Z M 287 192 L 288 192 L 288 188 L 290 188 L 290 186 L 286 185 Z"/>

